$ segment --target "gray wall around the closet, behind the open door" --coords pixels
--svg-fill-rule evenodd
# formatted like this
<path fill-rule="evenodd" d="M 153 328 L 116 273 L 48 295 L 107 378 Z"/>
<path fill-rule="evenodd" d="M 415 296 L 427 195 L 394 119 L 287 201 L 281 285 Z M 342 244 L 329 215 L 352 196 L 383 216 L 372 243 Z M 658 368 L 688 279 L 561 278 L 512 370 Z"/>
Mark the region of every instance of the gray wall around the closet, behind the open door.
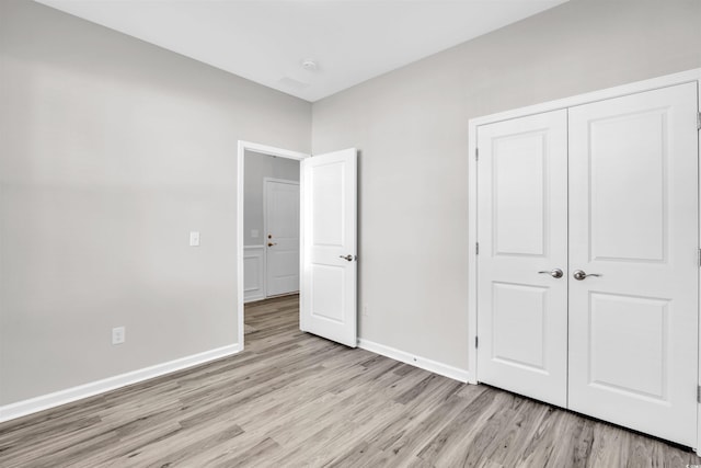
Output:
<path fill-rule="evenodd" d="M 360 156 L 360 335 L 467 368 L 468 119 L 701 67 L 701 1 L 572 0 L 314 103 Z"/>

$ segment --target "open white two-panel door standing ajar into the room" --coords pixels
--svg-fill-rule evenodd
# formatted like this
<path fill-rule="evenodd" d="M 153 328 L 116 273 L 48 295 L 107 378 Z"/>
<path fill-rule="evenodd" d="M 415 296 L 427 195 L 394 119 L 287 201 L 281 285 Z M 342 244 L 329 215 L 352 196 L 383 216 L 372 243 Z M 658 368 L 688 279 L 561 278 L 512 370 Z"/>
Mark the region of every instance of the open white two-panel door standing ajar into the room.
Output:
<path fill-rule="evenodd" d="M 357 152 L 301 162 L 300 329 L 357 345 Z"/>

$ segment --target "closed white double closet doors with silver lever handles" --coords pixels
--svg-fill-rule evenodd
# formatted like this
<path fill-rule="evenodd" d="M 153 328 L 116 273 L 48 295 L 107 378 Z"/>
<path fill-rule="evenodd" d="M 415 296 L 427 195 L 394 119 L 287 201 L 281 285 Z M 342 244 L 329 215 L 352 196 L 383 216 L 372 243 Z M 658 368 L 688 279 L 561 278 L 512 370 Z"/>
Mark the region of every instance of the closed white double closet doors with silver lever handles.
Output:
<path fill-rule="evenodd" d="M 478 128 L 478 379 L 697 441 L 697 84 Z"/>

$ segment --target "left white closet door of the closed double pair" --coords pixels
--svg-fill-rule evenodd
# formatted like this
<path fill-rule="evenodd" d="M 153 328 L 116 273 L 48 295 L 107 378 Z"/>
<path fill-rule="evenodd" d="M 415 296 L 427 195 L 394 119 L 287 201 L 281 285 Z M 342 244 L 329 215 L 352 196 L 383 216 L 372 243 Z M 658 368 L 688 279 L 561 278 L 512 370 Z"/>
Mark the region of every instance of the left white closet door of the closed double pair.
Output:
<path fill-rule="evenodd" d="M 567 391 L 566 111 L 478 129 L 478 379 L 561 407 Z M 564 275 L 553 277 L 550 272 Z"/>

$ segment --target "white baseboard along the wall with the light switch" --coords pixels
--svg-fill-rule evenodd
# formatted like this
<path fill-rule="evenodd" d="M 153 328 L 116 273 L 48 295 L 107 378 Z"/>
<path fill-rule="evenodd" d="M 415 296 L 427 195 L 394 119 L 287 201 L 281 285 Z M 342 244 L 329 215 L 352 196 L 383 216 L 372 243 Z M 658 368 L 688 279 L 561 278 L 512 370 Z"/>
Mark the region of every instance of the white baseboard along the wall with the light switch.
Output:
<path fill-rule="evenodd" d="M 153 377 L 160 377 L 162 375 L 182 370 L 198 364 L 204 364 L 209 361 L 230 356 L 240 352 L 242 347 L 241 343 L 231 344 L 216 350 L 205 351 L 204 353 L 181 357 L 168 363 L 157 364 L 154 366 L 116 375 L 114 377 L 107 377 L 102 380 L 79 385 L 78 387 L 67 388 L 54 393 L 42 395 L 28 400 L 5 404 L 0 407 L 0 422 L 48 410 L 76 400 L 104 393 L 105 391 L 115 390 L 127 385 L 137 384 Z"/>

